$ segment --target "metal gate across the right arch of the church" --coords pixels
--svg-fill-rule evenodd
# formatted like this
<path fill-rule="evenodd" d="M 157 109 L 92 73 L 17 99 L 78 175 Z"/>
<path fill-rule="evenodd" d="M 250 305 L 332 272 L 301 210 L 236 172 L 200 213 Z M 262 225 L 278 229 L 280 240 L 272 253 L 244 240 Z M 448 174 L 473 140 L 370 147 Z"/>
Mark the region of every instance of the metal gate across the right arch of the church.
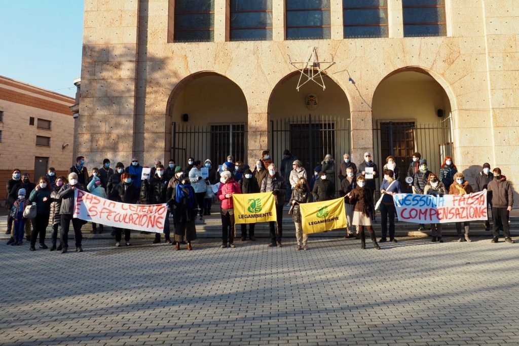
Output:
<path fill-rule="evenodd" d="M 413 153 L 418 151 L 427 159 L 429 170 L 439 174 L 445 156 L 453 156 L 452 119 L 447 117 L 439 123 L 416 123 L 413 120 L 389 121 L 377 120 L 373 124 L 373 160 L 377 164 L 380 176 L 386 164 L 386 157 L 393 156 L 401 172 L 402 187 L 411 191 L 404 178 L 413 160 Z M 379 179 L 378 179 L 379 180 Z"/>

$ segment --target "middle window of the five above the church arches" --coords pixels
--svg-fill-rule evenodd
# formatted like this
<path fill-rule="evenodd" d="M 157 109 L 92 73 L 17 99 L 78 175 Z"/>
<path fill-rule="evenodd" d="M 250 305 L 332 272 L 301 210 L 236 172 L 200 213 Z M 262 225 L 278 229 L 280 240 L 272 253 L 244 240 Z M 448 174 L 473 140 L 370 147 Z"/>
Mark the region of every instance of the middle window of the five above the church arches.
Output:
<path fill-rule="evenodd" d="M 286 39 L 330 39 L 330 0 L 285 0 Z"/>

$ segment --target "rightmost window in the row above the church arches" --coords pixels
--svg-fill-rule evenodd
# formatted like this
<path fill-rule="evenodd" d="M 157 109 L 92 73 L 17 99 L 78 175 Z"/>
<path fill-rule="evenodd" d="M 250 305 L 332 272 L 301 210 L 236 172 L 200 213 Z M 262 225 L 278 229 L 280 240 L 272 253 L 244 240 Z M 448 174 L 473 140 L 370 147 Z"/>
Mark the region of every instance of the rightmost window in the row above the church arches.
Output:
<path fill-rule="evenodd" d="M 404 37 L 447 36 L 445 0 L 403 0 Z"/>

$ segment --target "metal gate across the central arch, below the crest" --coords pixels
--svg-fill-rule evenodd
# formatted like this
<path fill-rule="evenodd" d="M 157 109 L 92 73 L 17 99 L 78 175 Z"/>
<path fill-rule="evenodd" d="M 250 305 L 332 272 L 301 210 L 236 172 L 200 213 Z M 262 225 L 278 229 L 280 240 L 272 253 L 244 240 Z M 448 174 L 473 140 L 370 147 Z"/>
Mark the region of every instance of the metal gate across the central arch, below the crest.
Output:
<path fill-rule="evenodd" d="M 321 164 L 326 154 L 331 154 L 336 166 L 343 155 L 350 153 L 350 119 L 327 115 L 299 115 L 270 120 L 270 145 L 276 165 L 281 164 L 283 150 L 303 162 L 308 176 Z M 335 174 L 337 179 L 337 174 Z M 339 187 L 335 182 L 336 188 Z"/>

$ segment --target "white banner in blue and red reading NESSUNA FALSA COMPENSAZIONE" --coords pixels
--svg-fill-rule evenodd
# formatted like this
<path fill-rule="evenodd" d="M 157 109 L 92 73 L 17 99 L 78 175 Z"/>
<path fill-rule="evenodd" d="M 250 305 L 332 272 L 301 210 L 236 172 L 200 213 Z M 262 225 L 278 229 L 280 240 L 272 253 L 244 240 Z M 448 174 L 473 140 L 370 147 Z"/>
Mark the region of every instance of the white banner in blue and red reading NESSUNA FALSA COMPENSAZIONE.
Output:
<path fill-rule="evenodd" d="M 418 224 L 445 224 L 487 220 L 486 190 L 470 195 L 418 195 L 397 193 L 393 196 L 400 221 Z"/>

